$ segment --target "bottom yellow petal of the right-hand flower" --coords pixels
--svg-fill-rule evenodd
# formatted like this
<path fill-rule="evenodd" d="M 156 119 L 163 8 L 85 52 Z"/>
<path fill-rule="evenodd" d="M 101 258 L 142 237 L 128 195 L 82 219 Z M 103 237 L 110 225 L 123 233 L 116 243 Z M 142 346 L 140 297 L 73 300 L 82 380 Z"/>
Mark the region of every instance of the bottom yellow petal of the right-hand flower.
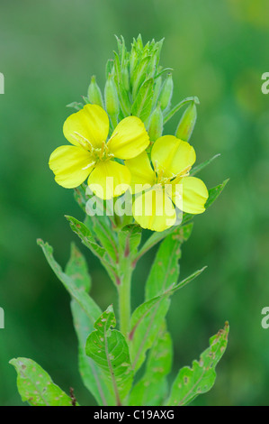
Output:
<path fill-rule="evenodd" d="M 174 226 L 175 207 L 164 189 L 150 189 L 138 195 L 132 207 L 133 217 L 142 228 L 152 231 L 165 231 Z"/>

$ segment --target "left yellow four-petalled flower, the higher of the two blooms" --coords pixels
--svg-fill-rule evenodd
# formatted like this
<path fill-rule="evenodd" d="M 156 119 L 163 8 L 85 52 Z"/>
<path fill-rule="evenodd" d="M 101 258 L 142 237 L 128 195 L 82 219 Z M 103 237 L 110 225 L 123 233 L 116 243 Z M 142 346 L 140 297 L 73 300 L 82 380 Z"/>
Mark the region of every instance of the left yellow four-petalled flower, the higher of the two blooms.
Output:
<path fill-rule="evenodd" d="M 63 131 L 73 145 L 58 147 L 49 158 L 49 168 L 60 186 L 74 189 L 89 177 L 88 185 L 101 198 L 126 191 L 130 171 L 115 159 L 130 160 L 147 149 L 148 133 L 138 117 L 123 119 L 106 142 L 108 115 L 101 106 L 85 105 L 68 116 Z"/>

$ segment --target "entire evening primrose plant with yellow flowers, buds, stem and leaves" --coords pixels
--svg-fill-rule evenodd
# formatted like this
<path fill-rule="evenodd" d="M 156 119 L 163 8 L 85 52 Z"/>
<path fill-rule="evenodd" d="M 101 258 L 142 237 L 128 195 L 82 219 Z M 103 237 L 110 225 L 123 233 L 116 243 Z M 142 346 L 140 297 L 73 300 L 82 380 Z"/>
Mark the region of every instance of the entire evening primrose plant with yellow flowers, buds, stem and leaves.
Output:
<path fill-rule="evenodd" d="M 83 222 L 75 217 L 67 221 L 108 272 L 118 293 L 115 309 L 109 305 L 102 311 L 90 296 L 91 277 L 76 244 L 65 269 L 48 243 L 38 244 L 71 296 L 79 372 L 96 403 L 187 405 L 215 382 L 229 325 L 211 337 L 199 361 L 183 367 L 168 384 L 173 346 L 166 315 L 175 292 L 205 268 L 179 278 L 182 244 L 192 233 L 193 217 L 211 206 L 227 180 L 207 189 L 195 176 L 217 156 L 193 166 L 196 154 L 190 139 L 199 101 L 187 97 L 171 106 L 172 69 L 159 64 L 163 41 L 144 45 L 139 36 L 130 51 L 122 37 L 117 42 L 119 51 L 106 65 L 104 96 L 93 77 L 84 103 L 68 105 L 75 109 L 63 127 L 68 144 L 49 158 L 56 182 L 74 190 L 85 213 Z M 166 123 L 183 108 L 175 134 L 164 134 Z M 145 299 L 133 310 L 133 272 L 157 244 L 147 281 L 139 281 L 145 285 Z M 73 389 L 63 392 L 31 359 L 21 357 L 11 364 L 22 401 L 78 405 L 76 388 L 75 394 Z"/>

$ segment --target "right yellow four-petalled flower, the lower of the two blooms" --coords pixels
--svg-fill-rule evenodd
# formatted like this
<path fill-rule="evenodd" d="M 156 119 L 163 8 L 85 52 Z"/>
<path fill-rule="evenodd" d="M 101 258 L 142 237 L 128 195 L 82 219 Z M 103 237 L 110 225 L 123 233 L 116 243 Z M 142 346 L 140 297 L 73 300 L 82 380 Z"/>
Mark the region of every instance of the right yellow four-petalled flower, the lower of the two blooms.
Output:
<path fill-rule="evenodd" d="M 125 161 L 131 173 L 132 192 L 137 194 L 132 212 L 139 226 L 152 231 L 166 230 L 175 225 L 175 206 L 190 214 L 204 212 L 208 190 L 202 180 L 189 176 L 195 160 L 189 143 L 165 135 L 153 145 L 153 168 L 146 152 Z"/>

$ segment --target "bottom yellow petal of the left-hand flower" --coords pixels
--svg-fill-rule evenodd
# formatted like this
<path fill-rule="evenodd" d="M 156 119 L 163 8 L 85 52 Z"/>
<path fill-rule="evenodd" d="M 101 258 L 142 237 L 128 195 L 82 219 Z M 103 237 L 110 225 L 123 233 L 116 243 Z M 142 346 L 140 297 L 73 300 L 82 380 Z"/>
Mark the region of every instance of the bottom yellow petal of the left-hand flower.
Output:
<path fill-rule="evenodd" d="M 130 171 L 116 161 L 101 161 L 89 176 L 88 186 L 98 198 L 121 196 L 130 187 Z"/>

